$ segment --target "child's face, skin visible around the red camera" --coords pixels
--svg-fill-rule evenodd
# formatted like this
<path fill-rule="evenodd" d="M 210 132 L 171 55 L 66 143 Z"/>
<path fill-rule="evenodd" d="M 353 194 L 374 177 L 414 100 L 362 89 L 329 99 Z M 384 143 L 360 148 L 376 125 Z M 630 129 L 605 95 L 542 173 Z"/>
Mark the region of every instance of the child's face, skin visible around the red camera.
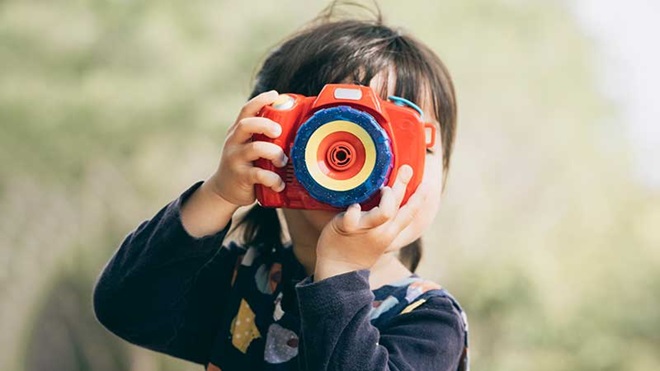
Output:
<path fill-rule="evenodd" d="M 382 75 L 376 76 L 371 81 L 371 87 L 376 91 L 379 90 L 382 80 Z M 391 82 L 388 86 L 394 86 Z M 391 95 L 393 92 L 388 92 Z M 431 109 L 431 105 L 427 102 L 420 102 L 420 106 L 424 111 L 424 117 L 435 118 L 435 114 Z M 434 119 L 435 121 L 435 119 Z M 437 125 L 437 123 L 436 123 Z M 439 129 L 438 129 L 439 132 Z M 426 161 L 424 163 L 424 177 L 416 192 L 423 192 L 425 196 L 424 207 L 416 216 L 413 222 L 405 228 L 395 241 L 388 247 L 387 251 L 398 250 L 407 244 L 415 241 L 421 237 L 426 228 L 433 222 L 435 215 L 440 206 L 440 199 L 442 194 L 442 146 L 441 140 L 438 138 L 435 141 L 434 147 L 431 152 L 426 154 Z M 337 212 L 325 210 L 284 210 L 287 220 L 292 218 L 298 219 L 297 223 L 305 225 L 306 228 L 311 228 L 315 232 L 320 233 L 323 227 L 330 222 L 330 220 L 337 215 Z M 300 220 L 302 219 L 302 220 Z"/>

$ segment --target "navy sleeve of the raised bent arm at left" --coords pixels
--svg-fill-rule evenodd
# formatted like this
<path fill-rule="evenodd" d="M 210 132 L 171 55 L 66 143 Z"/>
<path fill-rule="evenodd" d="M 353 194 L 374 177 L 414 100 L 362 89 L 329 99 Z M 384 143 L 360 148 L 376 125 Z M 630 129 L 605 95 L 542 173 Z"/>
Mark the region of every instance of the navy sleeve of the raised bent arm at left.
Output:
<path fill-rule="evenodd" d="M 181 205 L 200 184 L 126 237 L 96 283 L 94 311 L 131 343 L 206 364 L 237 254 L 221 247 L 229 225 L 204 238 L 183 228 Z"/>

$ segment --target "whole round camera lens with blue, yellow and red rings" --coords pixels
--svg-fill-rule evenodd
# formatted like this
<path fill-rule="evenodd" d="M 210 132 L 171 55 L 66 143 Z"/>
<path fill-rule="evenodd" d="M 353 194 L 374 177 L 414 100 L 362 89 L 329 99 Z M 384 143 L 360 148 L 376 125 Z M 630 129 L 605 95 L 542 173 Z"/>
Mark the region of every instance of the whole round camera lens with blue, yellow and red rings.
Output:
<path fill-rule="evenodd" d="M 392 157 L 389 137 L 376 119 L 348 106 L 317 111 L 300 126 L 291 148 L 298 182 L 336 207 L 372 197 L 385 183 Z"/>

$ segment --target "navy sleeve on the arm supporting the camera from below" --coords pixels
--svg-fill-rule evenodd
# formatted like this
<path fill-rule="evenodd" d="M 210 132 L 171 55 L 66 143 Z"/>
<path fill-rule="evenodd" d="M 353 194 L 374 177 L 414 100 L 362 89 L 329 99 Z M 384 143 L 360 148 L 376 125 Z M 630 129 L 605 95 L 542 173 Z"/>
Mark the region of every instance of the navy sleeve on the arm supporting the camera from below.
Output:
<path fill-rule="evenodd" d="M 308 370 L 455 371 L 463 351 L 459 315 L 448 299 L 431 297 L 380 330 L 369 321 L 369 272 L 298 284 L 301 362 Z"/>

